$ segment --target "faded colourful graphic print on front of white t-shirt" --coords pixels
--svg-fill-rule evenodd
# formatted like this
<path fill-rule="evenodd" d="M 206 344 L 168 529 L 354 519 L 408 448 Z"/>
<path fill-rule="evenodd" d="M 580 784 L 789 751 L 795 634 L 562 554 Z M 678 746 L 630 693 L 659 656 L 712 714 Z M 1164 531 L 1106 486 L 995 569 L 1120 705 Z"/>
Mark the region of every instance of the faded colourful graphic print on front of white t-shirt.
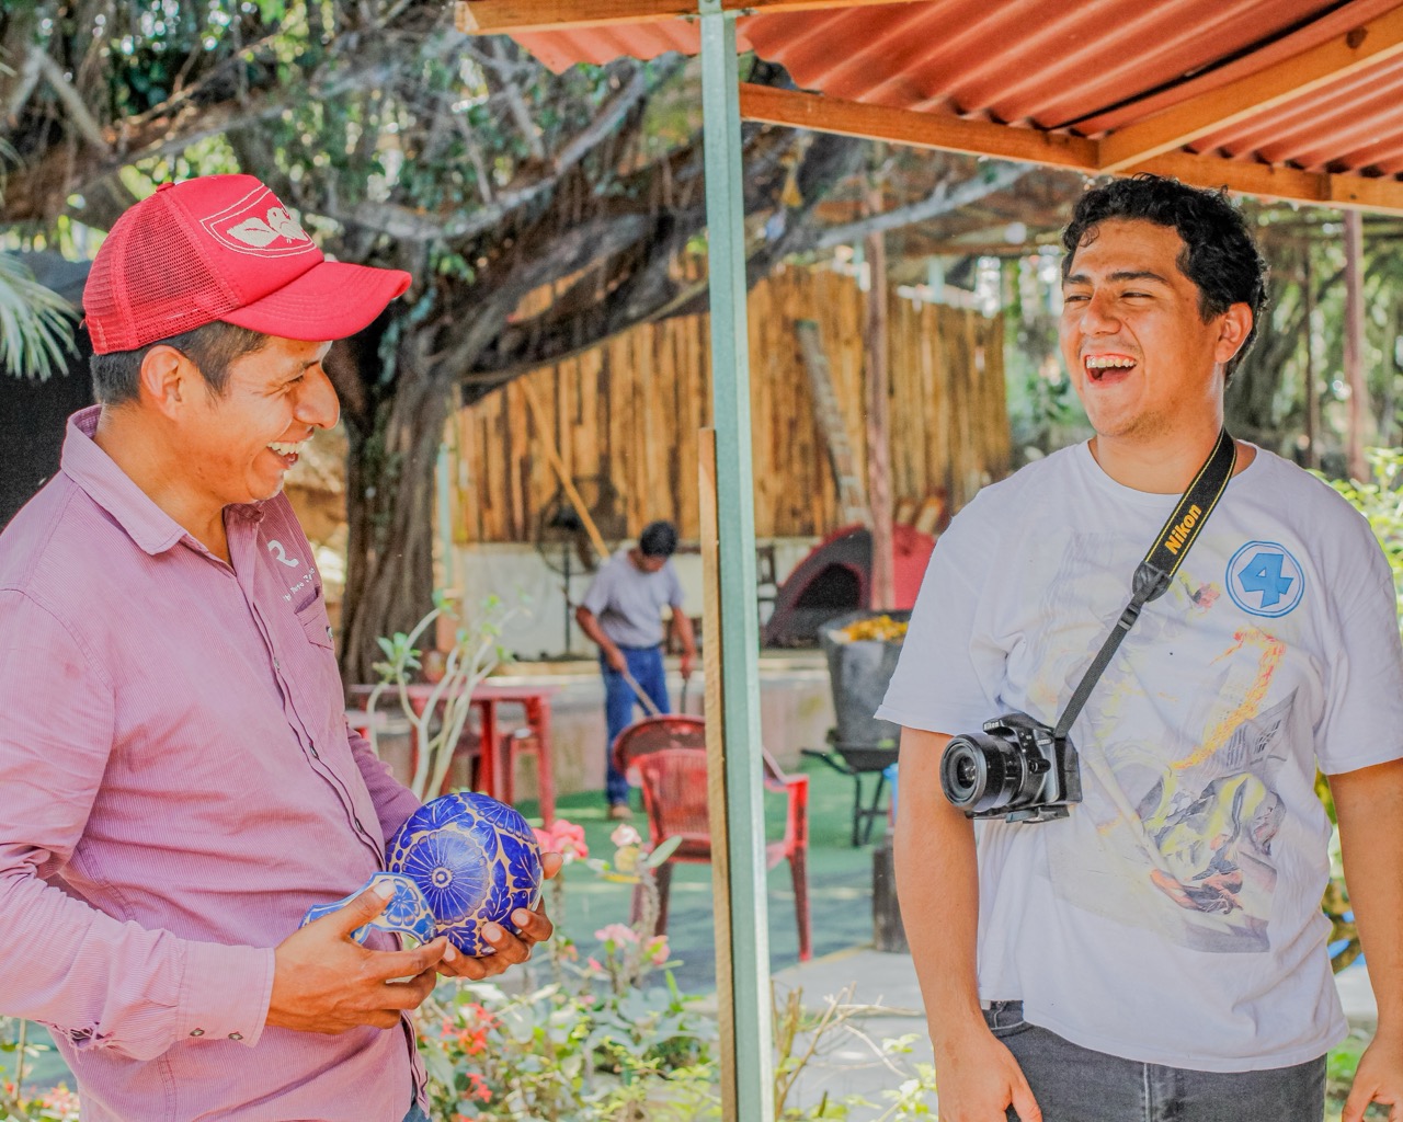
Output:
<path fill-rule="evenodd" d="M 1059 599 L 1070 602 L 1076 583 L 1096 579 L 1085 564 L 1096 550 L 1085 536 L 1068 544 L 1066 579 L 1052 583 Z M 1068 903 L 1177 945 L 1263 951 L 1295 690 L 1278 680 L 1285 644 L 1193 568 L 1191 558 L 1164 597 L 1167 610 L 1141 619 L 1142 630 L 1113 661 L 1078 724 L 1087 741 L 1073 734 L 1085 801 L 1073 829 L 1049 836 L 1048 872 Z M 1131 654 L 1138 644 L 1166 655 L 1155 680 L 1136 675 L 1145 662 Z M 1042 654 L 1049 668 L 1087 659 L 1086 651 Z M 1059 677 L 1068 680 L 1052 669 L 1030 693 L 1047 696 Z M 1187 707 L 1188 719 L 1166 722 L 1164 707 Z M 1167 734 L 1166 725 L 1180 732 Z M 1155 743 L 1146 729 L 1176 739 Z"/>

